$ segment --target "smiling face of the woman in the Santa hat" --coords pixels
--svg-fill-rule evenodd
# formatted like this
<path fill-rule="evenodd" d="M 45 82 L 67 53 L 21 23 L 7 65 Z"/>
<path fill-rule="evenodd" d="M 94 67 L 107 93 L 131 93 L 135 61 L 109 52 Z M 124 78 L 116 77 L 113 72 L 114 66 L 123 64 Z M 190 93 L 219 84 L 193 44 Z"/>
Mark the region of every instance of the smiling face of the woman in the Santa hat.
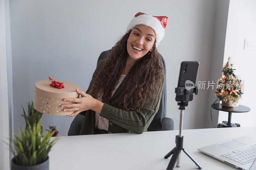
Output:
<path fill-rule="evenodd" d="M 152 51 L 155 40 L 156 33 L 151 27 L 145 25 L 134 26 L 127 40 L 128 54 L 134 60 L 140 59 L 146 55 L 148 51 Z"/>

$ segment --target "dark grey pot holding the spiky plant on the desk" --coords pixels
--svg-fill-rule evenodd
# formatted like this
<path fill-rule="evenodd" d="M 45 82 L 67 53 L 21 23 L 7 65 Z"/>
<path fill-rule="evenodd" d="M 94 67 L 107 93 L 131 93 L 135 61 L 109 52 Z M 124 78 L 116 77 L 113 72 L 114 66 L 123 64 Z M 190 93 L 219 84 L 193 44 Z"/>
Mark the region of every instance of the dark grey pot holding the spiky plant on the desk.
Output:
<path fill-rule="evenodd" d="M 33 166 L 16 165 L 14 163 L 14 158 L 12 158 L 11 170 L 49 170 L 49 156 L 47 157 L 46 161 Z"/>

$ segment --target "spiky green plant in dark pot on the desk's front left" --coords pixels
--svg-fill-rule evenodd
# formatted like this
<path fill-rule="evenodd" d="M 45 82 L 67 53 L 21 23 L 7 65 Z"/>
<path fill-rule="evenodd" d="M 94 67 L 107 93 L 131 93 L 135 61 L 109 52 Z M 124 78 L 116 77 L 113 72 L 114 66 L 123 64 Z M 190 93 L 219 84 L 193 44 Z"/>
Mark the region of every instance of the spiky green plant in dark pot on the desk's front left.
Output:
<path fill-rule="evenodd" d="M 49 170 L 49 156 L 52 146 L 59 140 L 58 137 L 50 140 L 55 130 L 41 132 L 41 119 L 34 123 L 33 127 L 24 129 L 19 127 L 20 136 L 14 133 L 14 139 L 10 144 L 14 158 L 11 162 L 11 170 Z M 12 147 L 14 146 L 14 149 Z"/>

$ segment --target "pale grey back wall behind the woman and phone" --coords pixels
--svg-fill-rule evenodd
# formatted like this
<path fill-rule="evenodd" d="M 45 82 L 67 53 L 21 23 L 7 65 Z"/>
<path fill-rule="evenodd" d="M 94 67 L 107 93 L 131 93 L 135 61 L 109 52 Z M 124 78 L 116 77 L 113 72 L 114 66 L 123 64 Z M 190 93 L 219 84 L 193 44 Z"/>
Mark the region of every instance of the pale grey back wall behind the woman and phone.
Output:
<path fill-rule="evenodd" d="M 87 90 L 98 56 L 114 46 L 139 11 L 169 17 L 165 37 L 157 49 L 167 66 L 167 117 L 178 129 L 180 112 L 174 89 L 180 63 L 199 61 L 197 80 L 210 79 L 216 2 L 10 1 L 14 130 L 19 123 L 25 125 L 21 104 L 26 106 L 34 99 L 37 81 L 52 76 Z M 188 104 L 184 129 L 206 127 L 208 96 L 209 90 L 200 90 Z M 42 124 L 45 128 L 56 125 L 59 134 L 65 136 L 72 120 L 44 114 Z"/>

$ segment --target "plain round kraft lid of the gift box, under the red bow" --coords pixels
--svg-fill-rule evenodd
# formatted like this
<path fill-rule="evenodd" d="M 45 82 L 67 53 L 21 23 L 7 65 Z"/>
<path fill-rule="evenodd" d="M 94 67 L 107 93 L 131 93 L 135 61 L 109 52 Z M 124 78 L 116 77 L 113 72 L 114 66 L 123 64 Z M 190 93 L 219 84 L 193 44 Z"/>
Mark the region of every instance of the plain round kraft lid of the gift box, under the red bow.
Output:
<path fill-rule="evenodd" d="M 64 88 L 58 89 L 50 85 L 52 81 L 53 80 L 42 80 L 36 82 L 35 92 L 45 97 L 52 97 L 58 99 L 77 98 L 79 96 L 79 94 L 76 92 L 76 89 L 81 90 L 81 87 L 79 85 L 67 81 L 55 80 L 63 83 L 64 85 Z"/>

